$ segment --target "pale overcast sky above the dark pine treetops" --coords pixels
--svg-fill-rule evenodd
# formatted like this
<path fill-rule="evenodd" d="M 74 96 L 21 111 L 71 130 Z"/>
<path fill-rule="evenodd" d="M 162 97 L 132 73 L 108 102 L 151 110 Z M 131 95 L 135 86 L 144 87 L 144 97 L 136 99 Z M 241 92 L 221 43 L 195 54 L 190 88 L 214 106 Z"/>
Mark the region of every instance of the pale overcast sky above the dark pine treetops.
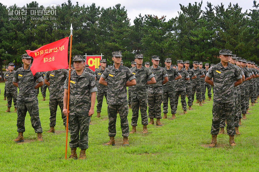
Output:
<path fill-rule="evenodd" d="M 3 1 L 3 0 L 1 0 Z M 0 2 L 1 2 L 0 1 Z M 92 3 L 95 3 L 96 6 L 108 8 L 108 7 L 113 7 L 116 4 L 120 3 L 121 6 L 125 6 L 125 9 L 127 10 L 128 17 L 131 19 L 130 22 L 133 24 L 133 20 L 138 17 L 138 15 L 141 13 L 142 16 L 145 14 L 152 14 L 152 15 L 157 15 L 158 17 L 161 17 L 163 15 L 166 16 L 166 19 L 169 20 L 171 18 L 175 18 L 178 16 L 178 11 L 180 11 L 180 4 L 187 6 L 189 3 L 194 4 L 195 1 L 193 0 L 181 0 L 181 1 L 173 1 L 173 0 L 149 0 L 149 1 L 142 1 L 142 0 L 71 0 L 73 5 L 76 5 L 76 2 L 79 3 L 80 6 L 85 4 L 85 6 L 90 6 Z M 22 7 L 26 5 L 26 3 L 30 3 L 30 0 L 12 0 L 12 1 L 4 1 L 1 2 L 7 7 L 16 4 L 18 7 Z M 44 0 L 44 1 L 37 1 L 40 5 L 43 5 L 44 7 L 49 6 L 50 4 L 58 4 L 61 5 L 62 3 L 66 2 L 67 0 Z M 201 1 L 196 1 L 197 3 Z M 211 0 L 209 1 L 212 3 L 212 5 L 219 5 L 220 1 L 216 0 Z M 224 4 L 224 7 L 228 7 L 229 3 L 238 3 L 240 7 L 242 7 L 242 11 L 244 12 L 245 10 L 253 9 L 253 0 L 247 0 L 247 1 L 241 1 L 241 0 L 236 0 L 236 1 L 229 1 L 229 0 L 224 0 L 222 2 Z M 258 2 L 259 3 L 259 0 Z M 205 10 L 205 7 L 207 6 L 207 1 L 203 1 L 202 4 L 202 10 Z"/>

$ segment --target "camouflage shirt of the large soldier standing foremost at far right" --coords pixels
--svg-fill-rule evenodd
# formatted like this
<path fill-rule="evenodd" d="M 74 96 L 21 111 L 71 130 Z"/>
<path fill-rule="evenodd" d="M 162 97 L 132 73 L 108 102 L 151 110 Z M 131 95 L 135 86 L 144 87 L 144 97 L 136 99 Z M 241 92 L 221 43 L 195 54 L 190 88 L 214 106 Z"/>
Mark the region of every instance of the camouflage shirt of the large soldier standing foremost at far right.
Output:
<path fill-rule="evenodd" d="M 223 67 L 221 62 L 212 66 L 207 76 L 213 78 L 214 96 L 213 101 L 219 103 L 234 102 L 234 84 L 241 79 L 241 70 L 236 65 L 228 63 L 227 67 Z"/>

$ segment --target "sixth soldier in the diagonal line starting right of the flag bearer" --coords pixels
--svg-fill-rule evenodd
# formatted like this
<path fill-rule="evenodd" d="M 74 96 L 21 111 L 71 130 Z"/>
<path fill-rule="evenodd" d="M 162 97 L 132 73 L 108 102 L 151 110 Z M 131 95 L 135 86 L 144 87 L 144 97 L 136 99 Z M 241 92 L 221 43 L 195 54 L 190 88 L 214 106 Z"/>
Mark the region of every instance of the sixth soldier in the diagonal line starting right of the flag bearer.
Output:
<path fill-rule="evenodd" d="M 196 74 L 193 71 L 193 69 L 190 69 L 190 61 L 186 60 L 184 61 L 184 66 L 185 66 L 185 70 L 188 72 L 190 79 L 189 80 L 184 80 L 185 82 L 185 88 L 186 88 L 186 94 L 188 97 L 188 106 L 189 106 L 189 110 L 193 110 L 192 109 L 192 84 L 191 84 L 191 80 L 194 80 L 196 78 Z"/>

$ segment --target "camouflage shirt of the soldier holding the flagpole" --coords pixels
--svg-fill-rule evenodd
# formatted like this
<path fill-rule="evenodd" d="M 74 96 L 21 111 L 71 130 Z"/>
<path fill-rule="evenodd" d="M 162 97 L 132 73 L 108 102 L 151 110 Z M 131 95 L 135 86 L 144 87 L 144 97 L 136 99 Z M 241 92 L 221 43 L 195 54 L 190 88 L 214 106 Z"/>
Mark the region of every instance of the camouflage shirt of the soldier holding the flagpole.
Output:
<path fill-rule="evenodd" d="M 68 89 L 68 77 L 63 87 Z M 91 93 L 96 91 L 95 78 L 92 74 L 83 71 L 78 76 L 76 72 L 72 72 L 70 74 L 69 115 L 88 116 Z"/>

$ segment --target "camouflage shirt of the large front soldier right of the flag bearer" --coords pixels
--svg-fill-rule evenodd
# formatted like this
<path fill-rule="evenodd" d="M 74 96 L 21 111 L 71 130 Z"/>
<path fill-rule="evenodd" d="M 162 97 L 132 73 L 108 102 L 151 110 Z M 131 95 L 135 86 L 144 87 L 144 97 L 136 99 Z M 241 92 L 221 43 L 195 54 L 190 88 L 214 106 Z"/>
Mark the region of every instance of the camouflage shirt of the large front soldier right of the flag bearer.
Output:
<path fill-rule="evenodd" d="M 114 65 L 105 69 L 101 75 L 107 81 L 107 103 L 110 105 L 121 105 L 127 103 L 126 82 L 136 79 L 126 66 L 119 66 L 115 69 Z"/>

